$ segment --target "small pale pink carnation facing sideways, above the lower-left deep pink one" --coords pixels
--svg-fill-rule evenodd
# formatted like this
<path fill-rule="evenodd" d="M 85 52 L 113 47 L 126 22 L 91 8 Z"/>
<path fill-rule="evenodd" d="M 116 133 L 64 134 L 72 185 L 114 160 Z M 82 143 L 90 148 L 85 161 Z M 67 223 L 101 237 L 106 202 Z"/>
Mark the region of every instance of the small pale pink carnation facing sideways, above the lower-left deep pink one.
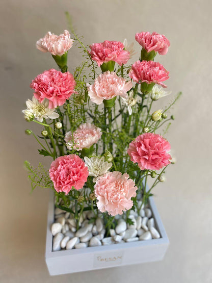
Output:
<path fill-rule="evenodd" d="M 68 149 L 82 150 L 89 148 L 100 139 L 102 135 L 101 129 L 91 123 L 81 124 L 76 131 L 67 132 L 65 135 L 65 142 Z M 73 145 L 74 142 L 74 145 Z"/>

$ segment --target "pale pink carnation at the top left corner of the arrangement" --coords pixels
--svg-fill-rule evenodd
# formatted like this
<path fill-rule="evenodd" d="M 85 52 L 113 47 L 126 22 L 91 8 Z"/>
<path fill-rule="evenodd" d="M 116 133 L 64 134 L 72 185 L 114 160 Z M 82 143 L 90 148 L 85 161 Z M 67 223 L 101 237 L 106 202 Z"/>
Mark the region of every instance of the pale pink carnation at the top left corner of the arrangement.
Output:
<path fill-rule="evenodd" d="M 64 31 L 63 34 L 55 35 L 48 32 L 43 38 L 39 39 L 36 43 L 37 48 L 42 52 L 49 52 L 52 55 L 62 56 L 73 45 L 70 33 Z"/>

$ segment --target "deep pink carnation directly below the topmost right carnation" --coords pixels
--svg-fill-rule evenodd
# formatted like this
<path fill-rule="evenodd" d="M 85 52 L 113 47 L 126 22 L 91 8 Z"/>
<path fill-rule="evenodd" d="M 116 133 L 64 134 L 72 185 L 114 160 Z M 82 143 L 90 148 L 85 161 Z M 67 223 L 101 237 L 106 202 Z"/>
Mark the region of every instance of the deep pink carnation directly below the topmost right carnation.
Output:
<path fill-rule="evenodd" d="M 169 72 L 158 62 L 154 61 L 136 61 L 130 71 L 129 76 L 136 83 L 146 82 L 147 84 L 155 83 L 166 88 L 162 82 L 169 79 Z"/>

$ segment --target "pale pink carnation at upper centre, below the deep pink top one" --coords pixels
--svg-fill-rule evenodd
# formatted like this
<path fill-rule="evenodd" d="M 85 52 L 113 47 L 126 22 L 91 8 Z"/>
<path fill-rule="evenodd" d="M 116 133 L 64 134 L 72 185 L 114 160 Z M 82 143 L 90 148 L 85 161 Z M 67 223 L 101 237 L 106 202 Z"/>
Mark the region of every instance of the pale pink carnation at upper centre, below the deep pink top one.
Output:
<path fill-rule="evenodd" d="M 106 71 L 96 78 L 93 85 L 87 84 L 87 87 L 91 101 L 99 105 L 104 99 L 112 99 L 117 95 L 126 98 L 126 92 L 133 84 L 130 81 L 126 82 L 115 72 Z"/>

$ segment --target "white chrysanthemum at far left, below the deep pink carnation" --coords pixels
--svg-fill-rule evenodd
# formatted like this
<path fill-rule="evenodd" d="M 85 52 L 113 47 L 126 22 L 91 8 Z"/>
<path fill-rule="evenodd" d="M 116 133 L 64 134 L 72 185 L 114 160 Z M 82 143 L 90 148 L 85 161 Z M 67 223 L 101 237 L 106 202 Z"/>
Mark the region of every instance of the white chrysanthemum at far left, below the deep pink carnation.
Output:
<path fill-rule="evenodd" d="M 33 99 L 28 99 L 26 101 L 26 110 L 22 110 L 22 112 L 28 113 L 29 111 L 35 116 L 35 118 L 42 122 L 43 118 L 45 119 L 57 119 L 59 117 L 58 113 L 55 113 L 55 109 L 48 108 L 48 99 L 44 99 L 41 103 L 33 96 Z"/>

